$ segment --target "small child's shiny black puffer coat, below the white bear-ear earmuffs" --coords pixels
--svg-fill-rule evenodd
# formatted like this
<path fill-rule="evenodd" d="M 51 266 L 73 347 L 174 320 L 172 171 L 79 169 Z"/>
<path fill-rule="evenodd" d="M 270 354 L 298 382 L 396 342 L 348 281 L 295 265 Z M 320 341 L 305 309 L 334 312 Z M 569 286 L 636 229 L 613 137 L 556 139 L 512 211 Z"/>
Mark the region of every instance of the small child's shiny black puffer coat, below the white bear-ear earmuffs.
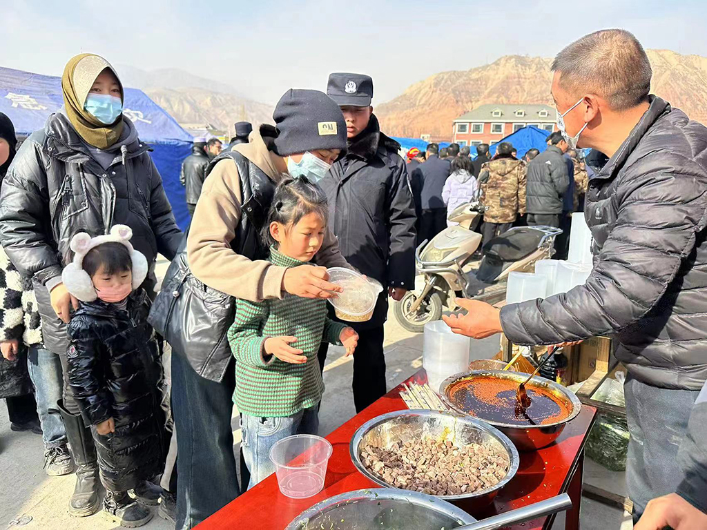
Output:
<path fill-rule="evenodd" d="M 100 300 L 84 303 L 69 322 L 69 384 L 86 425 L 115 420 L 97 440 L 106 488 L 125 491 L 163 470 L 158 387 L 159 351 L 147 323 L 150 300 L 132 293 L 126 310 Z"/>

